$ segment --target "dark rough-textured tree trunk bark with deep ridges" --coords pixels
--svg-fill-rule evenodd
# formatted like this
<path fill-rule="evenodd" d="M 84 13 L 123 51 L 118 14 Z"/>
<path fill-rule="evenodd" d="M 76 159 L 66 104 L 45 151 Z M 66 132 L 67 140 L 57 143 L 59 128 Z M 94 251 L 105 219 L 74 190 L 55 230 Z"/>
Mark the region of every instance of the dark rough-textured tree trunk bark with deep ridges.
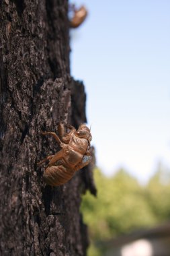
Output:
<path fill-rule="evenodd" d="M 91 166 L 66 185 L 44 184 L 36 163 L 59 148 L 42 130 L 86 121 L 85 91 L 69 71 L 66 0 L 0 2 L 1 255 L 86 255 L 81 193 Z"/>

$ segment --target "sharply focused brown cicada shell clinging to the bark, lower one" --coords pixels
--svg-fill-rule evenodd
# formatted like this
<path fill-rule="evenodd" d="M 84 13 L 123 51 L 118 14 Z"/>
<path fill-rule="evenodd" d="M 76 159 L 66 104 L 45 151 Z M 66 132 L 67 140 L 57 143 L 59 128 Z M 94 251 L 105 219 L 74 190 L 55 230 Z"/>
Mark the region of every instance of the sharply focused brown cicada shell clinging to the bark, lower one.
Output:
<path fill-rule="evenodd" d="M 58 125 L 58 135 L 46 131 L 43 135 L 52 135 L 59 143 L 61 150 L 55 155 L 47 156 L 38 163 L 42 164 L 46 160 L 48 166 L 44 172 L 44 181 L 51 186 L 60 186 L 69 181 L 75 172 L 91 162 L 92 139 L 90 129 L 85 125 L 80 125 L 79 129 L 67 125 L 67 132 L 61 123 Z"/>

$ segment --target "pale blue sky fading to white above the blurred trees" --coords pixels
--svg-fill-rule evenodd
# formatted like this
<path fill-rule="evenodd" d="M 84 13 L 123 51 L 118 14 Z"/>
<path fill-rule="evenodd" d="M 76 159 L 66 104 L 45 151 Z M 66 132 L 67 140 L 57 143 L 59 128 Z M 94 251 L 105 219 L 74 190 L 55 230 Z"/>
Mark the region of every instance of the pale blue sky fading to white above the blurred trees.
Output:
<path fill-rule="evenodd" d="M 97 166 L 142 183 L 170 167 L 170 1 L 70 1 L 89 11 L 71 30 L 71 74 L 87 93 Z"/>

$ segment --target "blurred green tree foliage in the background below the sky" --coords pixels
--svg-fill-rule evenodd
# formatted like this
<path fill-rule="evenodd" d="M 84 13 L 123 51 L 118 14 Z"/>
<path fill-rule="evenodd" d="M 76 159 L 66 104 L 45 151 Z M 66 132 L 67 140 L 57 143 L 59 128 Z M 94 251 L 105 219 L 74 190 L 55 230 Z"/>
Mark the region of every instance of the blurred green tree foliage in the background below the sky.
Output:
<path fill-rule="evenodd" d="M 81 204 L 93 243 L 169 219 L 170 177 L 163 183 L 165 172 L 158 170 L 145 187 L 122 169 L 111 178 L 98 168 L 94 173 L 97 198 L 87 192 Z M 100 256 L 93 243 L 88 255 Z"/>

